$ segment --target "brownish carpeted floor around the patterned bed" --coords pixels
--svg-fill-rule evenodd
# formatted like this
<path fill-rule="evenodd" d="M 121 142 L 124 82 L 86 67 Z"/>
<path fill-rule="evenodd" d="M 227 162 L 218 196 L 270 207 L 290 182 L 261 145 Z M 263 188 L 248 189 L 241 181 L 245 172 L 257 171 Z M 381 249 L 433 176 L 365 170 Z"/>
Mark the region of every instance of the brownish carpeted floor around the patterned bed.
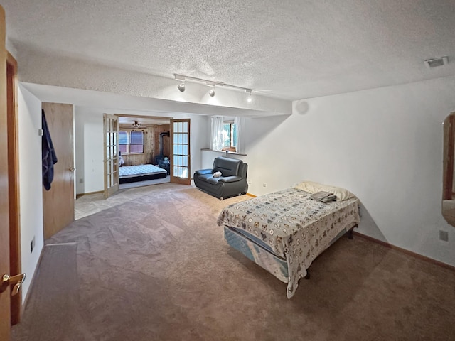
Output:
<path fill-rule="evenodd" d="M 46 241 L 77 243 L 77 266 L 51 306 L 37 276 L 12 340 L 455 340 L 455 272 L 361 237 L 319 256 L 288 300 L 216 224 L 247 199 L 174 184 L 110 198 Z M 43 259 L 39 271 L 56 269 Z M 40 316 L 52 327 L 33 327 Z"/>

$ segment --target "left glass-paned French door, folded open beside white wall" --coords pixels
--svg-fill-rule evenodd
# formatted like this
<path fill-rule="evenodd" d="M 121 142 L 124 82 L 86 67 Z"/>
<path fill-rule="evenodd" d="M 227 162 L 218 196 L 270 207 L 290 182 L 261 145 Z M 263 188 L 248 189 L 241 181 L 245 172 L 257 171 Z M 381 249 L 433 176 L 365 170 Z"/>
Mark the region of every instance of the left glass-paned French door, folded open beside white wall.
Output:
<path fill-rule="evenodd" d="M 104 114 L 105 199 L 119 190 L 119 118 Z"/>

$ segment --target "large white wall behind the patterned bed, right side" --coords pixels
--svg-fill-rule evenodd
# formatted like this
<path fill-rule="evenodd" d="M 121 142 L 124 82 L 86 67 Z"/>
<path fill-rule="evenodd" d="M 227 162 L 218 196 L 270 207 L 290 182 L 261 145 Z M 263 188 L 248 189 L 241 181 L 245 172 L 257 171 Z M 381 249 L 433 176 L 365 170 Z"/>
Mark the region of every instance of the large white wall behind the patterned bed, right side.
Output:
<path fill-rule="evenodd" d="M 247 119 L 240 158 L 249 164 L 248 192 L 301 180 L 348 188 L 362 204 L 359 232 L 455 265 L 455 229 L 441 215 L 442 122 L 455 112 L 454 89 L 455 77 L 439 78 L 296 102 L 307 109 L 290 117 Z M 203 168 L 218 155 L 203 152 Z"/>

